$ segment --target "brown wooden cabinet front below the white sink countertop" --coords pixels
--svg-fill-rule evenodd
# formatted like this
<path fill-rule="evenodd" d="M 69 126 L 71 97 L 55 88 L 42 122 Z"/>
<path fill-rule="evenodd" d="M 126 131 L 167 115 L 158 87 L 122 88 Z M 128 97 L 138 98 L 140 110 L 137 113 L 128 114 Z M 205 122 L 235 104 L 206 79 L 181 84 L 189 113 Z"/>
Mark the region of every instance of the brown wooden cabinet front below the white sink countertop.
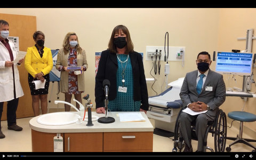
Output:
<path fill-rule="evenodd" d="M 31 130 L 32 151 L 53 152 L 57 133 Z M 153 132 L 61 133 L 65 152 L 153 151 Z"/>

